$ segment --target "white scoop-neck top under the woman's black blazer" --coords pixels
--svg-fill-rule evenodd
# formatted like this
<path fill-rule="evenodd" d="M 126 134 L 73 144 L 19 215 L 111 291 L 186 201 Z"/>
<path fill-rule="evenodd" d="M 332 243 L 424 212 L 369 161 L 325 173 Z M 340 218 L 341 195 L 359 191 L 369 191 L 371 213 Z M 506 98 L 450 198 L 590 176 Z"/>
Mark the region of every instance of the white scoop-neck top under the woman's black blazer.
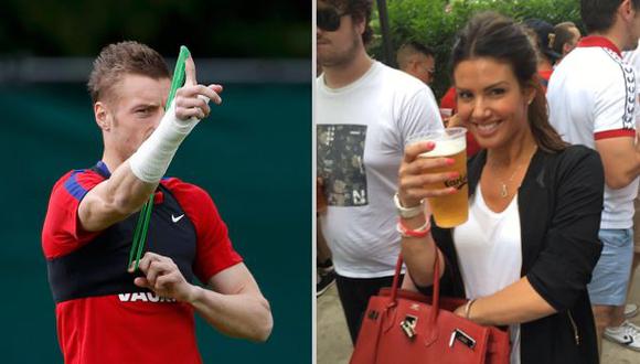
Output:
<path fill-rule="evenodd" d="M 454 229 L 454 245 L 468 299 L 493 295 L 520 280 L 522 238 L 518 195 L 494 213 L 484 203 L 480 183 L 469 200 L 469 220 Z M 512 324 L 511 364 L 520 363 L 520 324 Z"/>

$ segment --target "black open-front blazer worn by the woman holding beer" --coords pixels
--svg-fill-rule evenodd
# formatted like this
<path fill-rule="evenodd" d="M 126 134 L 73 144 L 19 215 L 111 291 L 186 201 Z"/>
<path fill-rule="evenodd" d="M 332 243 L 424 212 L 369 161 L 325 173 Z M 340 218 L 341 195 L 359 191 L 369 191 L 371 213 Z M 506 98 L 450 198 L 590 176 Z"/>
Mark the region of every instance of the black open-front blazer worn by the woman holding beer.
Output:
<path fill-rule="evenodd" d="M 468 161 L 469 194 L 487 161 L 480 151 Z M 518 204 L 522 271 L 557 313 L 521 324 L 522 364 L 598 363 L 596 329 L 586 286 L 600 257 L 598 239 L 605 176 L 599 154 L 583 146 L 532 158 Z M 445 255 L 444 296 L 465 298 L 451 229 L 433 223 Z M 420 288 L 429 293 L 428 288 Z"/>

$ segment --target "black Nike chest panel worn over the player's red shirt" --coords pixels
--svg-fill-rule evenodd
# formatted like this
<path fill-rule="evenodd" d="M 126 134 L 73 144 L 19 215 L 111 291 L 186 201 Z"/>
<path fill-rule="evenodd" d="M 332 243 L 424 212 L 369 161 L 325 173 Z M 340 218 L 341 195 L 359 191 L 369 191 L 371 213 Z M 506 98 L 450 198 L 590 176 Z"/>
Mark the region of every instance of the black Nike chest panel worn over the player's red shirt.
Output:
<path fill-rule="evenodd" d="M 104 164 L 103 164 L 104 165 Z M 108 179 L 99 164 L 92 171 Z M 159 185 L 163 201 L 153 206 L 146 251 L 171 257 L 188 281 L 193 281 L 196 233 L 193 223 L 169 189 Z M 158 192 L 157 192 L 158 193 Z M 78 298 L 143 292 L 134 285 L 140 274 L 129 274 L 127 261 L 139 213 L 114 224 L 78 249 L 47 260 L 51 290 L 56 303 Z"/>

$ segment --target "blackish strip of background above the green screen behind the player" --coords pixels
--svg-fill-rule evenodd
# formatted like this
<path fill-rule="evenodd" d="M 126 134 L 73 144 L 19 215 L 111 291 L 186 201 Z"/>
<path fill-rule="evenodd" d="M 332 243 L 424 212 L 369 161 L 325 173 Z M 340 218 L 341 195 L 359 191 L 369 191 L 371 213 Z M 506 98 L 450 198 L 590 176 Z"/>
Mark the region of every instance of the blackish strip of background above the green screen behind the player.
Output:
<path fill-rule="evenodd" d="M 0 56 L 94 56 L 125 39 L 199 57 L 309 57 L 311 2 L 2 0 Z"/>

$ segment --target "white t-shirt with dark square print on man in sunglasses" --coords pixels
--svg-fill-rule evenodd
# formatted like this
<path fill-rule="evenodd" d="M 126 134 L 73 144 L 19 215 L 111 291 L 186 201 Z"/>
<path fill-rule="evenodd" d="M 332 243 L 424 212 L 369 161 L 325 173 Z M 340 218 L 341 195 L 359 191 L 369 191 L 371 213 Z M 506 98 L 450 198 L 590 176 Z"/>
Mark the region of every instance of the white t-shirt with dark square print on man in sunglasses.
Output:
<path fill-rule="evenodd" d="M 327 214 L 320 222 L 335 271 L 351 278 L 391 276 L 399 253 L 393 194 L 405 140 L 442 129 L 431 90 L 380 62 L 349 86 L 317 79 L 318 176 Z"/>

